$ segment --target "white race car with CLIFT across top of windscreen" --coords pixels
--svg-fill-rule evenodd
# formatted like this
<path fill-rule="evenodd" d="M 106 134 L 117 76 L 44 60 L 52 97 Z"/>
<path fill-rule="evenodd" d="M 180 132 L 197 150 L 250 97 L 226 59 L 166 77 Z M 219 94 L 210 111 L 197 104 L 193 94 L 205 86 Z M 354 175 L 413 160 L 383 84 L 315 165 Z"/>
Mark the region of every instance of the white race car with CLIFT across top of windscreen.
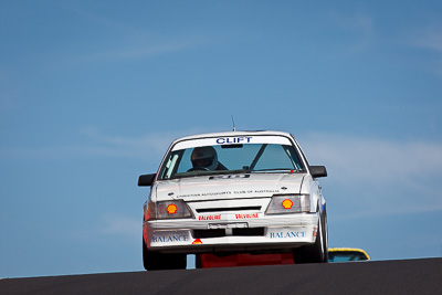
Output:
<path fill-rule="evenodd" d="M 187 254 L 292 252 L 295 263 L 327 262 L 326 202 L 294 136 L 230 131 L 175 140 L 144 206 L 148 271 L 186 268 Z"/>

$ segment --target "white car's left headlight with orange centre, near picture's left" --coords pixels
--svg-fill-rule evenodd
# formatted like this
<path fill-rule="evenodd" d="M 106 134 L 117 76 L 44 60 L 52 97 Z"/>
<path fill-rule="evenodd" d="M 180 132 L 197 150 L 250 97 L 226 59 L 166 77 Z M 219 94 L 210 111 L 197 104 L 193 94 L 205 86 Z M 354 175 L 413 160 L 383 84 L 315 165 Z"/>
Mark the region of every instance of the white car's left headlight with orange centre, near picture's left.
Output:
<path fill-rule="evenodd" d="M 149 202 L 150 219 L 190 218 L 189 208 L 182 200 Z"/>

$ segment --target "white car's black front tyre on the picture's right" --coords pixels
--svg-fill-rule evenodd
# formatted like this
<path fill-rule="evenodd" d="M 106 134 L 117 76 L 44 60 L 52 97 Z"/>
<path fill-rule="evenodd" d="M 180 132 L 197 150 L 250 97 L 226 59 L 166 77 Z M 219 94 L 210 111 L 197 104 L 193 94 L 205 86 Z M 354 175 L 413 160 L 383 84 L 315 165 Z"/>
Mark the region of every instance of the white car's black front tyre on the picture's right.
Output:
<path fill-rule="evenodd" d="M 316 241 L 313 245 L 302 246 L 293 250 L 295 263 L 327 263 L 328 262 L 328 234 L 327 214 L 318 221 Z"/>

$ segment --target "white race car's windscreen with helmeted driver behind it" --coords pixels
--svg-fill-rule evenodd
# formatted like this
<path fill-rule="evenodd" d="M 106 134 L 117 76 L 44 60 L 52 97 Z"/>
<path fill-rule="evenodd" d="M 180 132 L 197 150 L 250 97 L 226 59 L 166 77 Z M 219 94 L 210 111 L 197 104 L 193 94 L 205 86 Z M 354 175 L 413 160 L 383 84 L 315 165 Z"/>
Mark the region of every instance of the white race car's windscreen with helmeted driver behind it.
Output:
<path fill-rule="evenodd" d="M 172 150 L 166 157 L 159 179 L 198 175 L 242 172 L 305 172 L 291 145 L 233 144 Z"/>

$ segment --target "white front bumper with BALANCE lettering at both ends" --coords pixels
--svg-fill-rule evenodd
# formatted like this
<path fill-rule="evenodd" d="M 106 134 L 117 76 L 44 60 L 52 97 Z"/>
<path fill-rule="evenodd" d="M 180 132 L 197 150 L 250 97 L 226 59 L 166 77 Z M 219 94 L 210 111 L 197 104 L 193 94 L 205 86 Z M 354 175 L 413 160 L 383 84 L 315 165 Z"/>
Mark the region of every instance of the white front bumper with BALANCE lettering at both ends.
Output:
<path fill-rule="evenodd" d="M 203 219 L 152 220 L 144 223 L 149 251 L 204 253 L 271 251 L 313 244 L 318 213 L 264 215 L 213 214 Z"/>

